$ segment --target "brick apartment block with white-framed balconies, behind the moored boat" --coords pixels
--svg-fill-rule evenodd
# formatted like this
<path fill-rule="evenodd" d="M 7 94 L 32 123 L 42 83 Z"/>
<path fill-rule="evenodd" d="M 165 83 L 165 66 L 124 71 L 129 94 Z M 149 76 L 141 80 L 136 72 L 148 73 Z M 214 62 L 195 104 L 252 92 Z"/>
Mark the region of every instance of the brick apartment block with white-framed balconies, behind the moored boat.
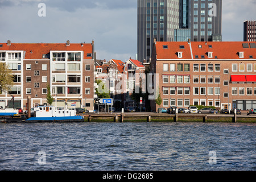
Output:
<path fill-rule="evenodd" d="M 12 96 L 15 107 L 27 109 L 47 104 L 50 86 L 56 107 L 86 107 L 94 110 L 94 42 L 71 44 L 0 43 L 0 63 L 13 70 L 14 85 L 0 93 L 0 106 Z M 9 107 L 13 107 L 9 105 Z"/>

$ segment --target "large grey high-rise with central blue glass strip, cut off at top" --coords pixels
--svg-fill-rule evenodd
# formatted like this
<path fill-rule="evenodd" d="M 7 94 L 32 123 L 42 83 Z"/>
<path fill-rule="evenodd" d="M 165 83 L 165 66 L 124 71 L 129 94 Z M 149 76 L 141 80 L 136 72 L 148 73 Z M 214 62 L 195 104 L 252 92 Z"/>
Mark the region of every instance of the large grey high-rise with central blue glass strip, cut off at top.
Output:
<path fill-rule="evenodd" d="M 138 60 L 150 60 L 152 43 L 219 42 L 222 0 L 138 0 Z"/>

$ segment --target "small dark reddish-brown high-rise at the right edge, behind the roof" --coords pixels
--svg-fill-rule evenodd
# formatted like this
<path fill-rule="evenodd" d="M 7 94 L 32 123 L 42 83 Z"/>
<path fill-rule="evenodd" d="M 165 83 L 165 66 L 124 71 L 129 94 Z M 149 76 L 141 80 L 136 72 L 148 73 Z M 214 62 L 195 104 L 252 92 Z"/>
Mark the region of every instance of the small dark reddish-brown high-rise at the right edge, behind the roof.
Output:
<path fill-rule="evenodd" d="M 256 41 L 256 21 L 246 20 L 243 22 L 243 41 Z"/>

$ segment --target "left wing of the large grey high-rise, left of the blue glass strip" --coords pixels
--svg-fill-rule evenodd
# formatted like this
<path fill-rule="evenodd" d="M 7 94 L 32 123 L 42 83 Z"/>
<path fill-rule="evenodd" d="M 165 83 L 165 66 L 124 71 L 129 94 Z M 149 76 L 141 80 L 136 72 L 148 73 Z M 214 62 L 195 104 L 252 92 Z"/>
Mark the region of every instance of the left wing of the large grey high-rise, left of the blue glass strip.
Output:
<path fill-rule="evenodd" d="M 180 0 L 138 0 L 138 60 L 150 60 L 152 44 L 174 41 L 179 28 Z"/>

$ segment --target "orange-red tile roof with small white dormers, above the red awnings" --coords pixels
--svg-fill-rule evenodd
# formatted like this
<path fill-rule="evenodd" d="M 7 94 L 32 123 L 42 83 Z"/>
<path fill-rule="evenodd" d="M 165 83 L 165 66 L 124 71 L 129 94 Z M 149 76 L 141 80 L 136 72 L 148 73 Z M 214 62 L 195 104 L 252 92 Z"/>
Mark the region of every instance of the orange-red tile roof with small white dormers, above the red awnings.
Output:
<path fill-rule="evenodd" d="M 243 44 L 247 44 L 248 48 L 243 47 Z M 167 46 L 168 48 L 164 48 Z M 180 48 L 184 46 L 184 48 Z M 244 52 L 244 58 L 256 59 L 255 42 L 191 42 L 191 48 L 188 42 L 156 42 L 156 55 L 157 59 L 179 59 L 177 52 L 183 52 L 183 57 L 180 59 L 201 59 L 204 56 L 205 59 L 241 59 L 239 52 Z M 208 52 L 212 52 L 213 57 L 208 57 Z M 217 56 L 217 57 L 215 57 Z"/>

